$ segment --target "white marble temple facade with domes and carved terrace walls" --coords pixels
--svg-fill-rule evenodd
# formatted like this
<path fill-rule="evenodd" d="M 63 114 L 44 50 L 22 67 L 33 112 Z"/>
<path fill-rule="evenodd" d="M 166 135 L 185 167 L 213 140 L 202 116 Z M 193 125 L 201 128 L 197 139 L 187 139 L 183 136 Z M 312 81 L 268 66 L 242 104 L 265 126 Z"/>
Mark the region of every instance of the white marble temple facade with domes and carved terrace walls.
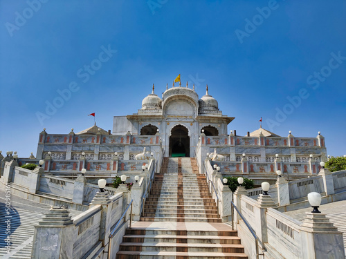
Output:
<path fill-rule="evenodd" d="M 281 170 L 300 177 L 318 173 L 318 163 L 327 161 L 325 138 L 320 133 L 295 137 L 289 131 L 282 137 L 259 128 L 239 136 L 227 131 L 233 119 L 219 110 L 208 85 L 201 98 L 188 85 L 166 86 L 158 97 L 153 85 L 137 113 L 113 117 L 113 131 L 93 125 L 79 133 L 71 129 L 67 134 L 52 135 L 44 129 L 35 159 L 46 160 L 45 171 L 52 173 L 82 168 L 118 173 L 140 171 L 143 163 L 138 160 L 150 156 L 160 162 L 162 157 L 176 156 L 204 160 L 216 153 L 222 157 L 222 173 L 262 175 Z"/>

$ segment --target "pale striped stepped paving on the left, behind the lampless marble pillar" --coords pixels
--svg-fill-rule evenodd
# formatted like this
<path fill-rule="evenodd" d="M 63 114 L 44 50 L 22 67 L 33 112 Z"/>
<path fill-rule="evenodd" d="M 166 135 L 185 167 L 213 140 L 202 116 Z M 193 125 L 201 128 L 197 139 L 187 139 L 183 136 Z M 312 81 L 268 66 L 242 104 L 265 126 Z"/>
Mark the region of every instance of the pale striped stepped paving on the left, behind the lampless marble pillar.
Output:
<path fill-rule="evenodd" d="M 26 200 L 10 195 L 10 210 L 6 210 L 5 189 L 0 189 L 0 258 L 30 258 L 33 247 L 35 224 L 38 224 L 51 209 L 51 205 Z M 69 209 L 73 218 L 82 213 Z M 6 249 L 6 238 L 10 231 L 10 253 Z"/>

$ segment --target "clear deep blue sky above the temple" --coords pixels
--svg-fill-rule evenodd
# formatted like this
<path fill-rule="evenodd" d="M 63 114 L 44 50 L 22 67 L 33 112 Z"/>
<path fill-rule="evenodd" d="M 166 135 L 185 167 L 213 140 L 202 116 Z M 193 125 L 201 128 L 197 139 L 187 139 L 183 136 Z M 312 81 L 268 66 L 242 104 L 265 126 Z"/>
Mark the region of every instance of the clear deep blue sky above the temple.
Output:
<path fill-rule="evenodd" d="M 262 117 L 344 155 L 345 14 L 345 1 L 1 0 L 0 150 L 28 157 L 42 128 L 78 132 L 90 113 L 111 129 L 180 73 L 200 97 L 208 84 L 237 135 Z"/>

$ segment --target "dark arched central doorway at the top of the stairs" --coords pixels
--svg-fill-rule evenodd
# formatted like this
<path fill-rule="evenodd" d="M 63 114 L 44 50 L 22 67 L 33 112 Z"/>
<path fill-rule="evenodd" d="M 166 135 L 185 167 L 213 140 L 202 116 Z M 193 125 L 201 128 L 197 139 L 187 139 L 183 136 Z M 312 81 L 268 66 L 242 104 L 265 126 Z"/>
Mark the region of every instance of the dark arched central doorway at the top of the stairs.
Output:
<path fill-rule="evenodd" d="M 176 125 L 170 135 L 170 157 L 190 157 L 190 137 L 188 128 Z"/>

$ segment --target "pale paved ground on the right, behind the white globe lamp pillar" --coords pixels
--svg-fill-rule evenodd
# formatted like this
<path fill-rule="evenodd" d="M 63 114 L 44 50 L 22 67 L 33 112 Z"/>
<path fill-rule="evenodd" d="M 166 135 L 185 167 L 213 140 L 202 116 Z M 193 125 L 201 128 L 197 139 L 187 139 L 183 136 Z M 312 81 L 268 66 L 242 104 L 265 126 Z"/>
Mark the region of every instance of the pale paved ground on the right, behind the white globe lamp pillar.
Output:
<path fill-rule="evenodd" d="M 346 200 L 341 200 L 339 202 L 331 202 L 328 204 L 322 204 L 318 208 L 322 213 L 326 214 L 330 222 L 338 228 L 338 231 L 343 232 L 344 246 L 346 249 Z M 295 211 L 284 212 L 286 215 L 294 218 L 295 220 L 302 221 L 306 212 L 311 212 L 312 208 L 297 209 Z"/>

